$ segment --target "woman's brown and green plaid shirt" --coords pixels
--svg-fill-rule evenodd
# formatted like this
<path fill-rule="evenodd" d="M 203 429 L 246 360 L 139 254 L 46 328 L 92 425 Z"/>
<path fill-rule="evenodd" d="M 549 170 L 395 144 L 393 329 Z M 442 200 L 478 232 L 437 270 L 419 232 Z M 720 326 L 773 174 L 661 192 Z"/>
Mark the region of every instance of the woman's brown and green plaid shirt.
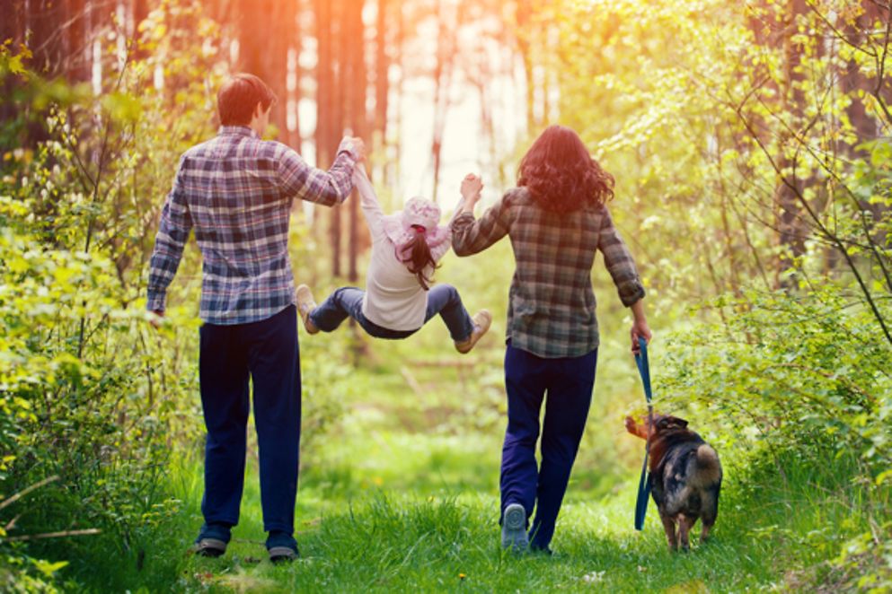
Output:
<path fill-rule="evenodd" d="M 644 296 L 629 249 L 606 208 L 556 214 L 536 205 L 526 188 L 515 188 L 479 221 L 470 213 L 456 217 L 452 231 L 459 256 L 511 238 L 517 268 L 508 293 L 508 339 L 540 357 L 575 357 L 597 348 L 591 280 L 597 249 L 623 305 Z"/>

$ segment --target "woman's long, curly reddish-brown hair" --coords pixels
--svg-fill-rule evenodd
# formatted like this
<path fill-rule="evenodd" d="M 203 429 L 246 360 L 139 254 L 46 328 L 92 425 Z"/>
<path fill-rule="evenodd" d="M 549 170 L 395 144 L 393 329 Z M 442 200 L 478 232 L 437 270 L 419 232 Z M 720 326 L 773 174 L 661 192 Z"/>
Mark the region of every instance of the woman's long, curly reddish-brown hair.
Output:
<path fill-rule="evenodd" d="M 602 206 L 614 197 L 614 176 L 588 153 L 579 135 L 564 126 L 549 126 L 536 138 L 520 161 L 517 185 L 555 213 Z"/>

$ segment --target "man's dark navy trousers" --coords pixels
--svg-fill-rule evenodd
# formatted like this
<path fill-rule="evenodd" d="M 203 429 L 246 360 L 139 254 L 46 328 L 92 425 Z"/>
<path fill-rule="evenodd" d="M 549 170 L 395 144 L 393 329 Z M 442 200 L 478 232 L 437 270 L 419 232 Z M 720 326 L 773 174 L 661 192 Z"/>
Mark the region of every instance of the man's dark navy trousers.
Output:
<path fill-rule="evenodd" d="M 208 441 L 201 512 L 208 526 L 238 523 L 244 484 L 248 377 L 261 462 L 263 529 L 294 532 L 300 444 L 300 352 L 294 305 L 251 324 L 200 329 L 199 380 Z"/>

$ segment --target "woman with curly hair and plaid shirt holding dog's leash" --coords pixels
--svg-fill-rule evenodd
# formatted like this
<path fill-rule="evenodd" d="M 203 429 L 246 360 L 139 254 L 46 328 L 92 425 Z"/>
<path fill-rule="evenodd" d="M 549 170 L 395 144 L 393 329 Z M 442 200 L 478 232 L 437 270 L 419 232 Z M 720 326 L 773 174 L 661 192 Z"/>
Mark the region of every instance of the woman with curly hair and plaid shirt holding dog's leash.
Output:
<path fill-rule="evenodd" d="M 591 269 L 596 250 L 604 254 L 620 299 L 634 315 L 632 349 L 639 337 L 650 340 L 641 303 L 644 288 L 605 206 L 613 188 L 614 178 L 592 159 L 579 136 L 552 126 L 520 162 L 517 188 L 480 220 L 473 216 L 480 196 L 465 200 L 451 224 L 458 256 L 476 254 L 508 235 L 517 265 L 508 297 L 508 430 L 500 478 L 506 548 L 551 552 L 595 383 L 598 330 Z M 537 468 L 543 400 L 542 464 Z"/>

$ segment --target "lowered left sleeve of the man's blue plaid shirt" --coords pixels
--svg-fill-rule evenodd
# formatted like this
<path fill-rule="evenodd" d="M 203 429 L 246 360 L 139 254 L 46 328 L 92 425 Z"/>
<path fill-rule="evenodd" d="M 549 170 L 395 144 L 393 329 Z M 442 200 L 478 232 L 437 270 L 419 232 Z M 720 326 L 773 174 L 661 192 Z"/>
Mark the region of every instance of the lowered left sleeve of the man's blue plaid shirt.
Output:
<path fill-rule="evenodd" d="M 189 240 L 192 230 L 192 217 L 183 189 L 185 162 L 185 158 L 180 160 L 176 177 L 173 179 L 173 188 L 164 202 L 161 224 L 155 235 L 155 249 L 149 260 L 146 309 L 150 311 L 165 310 L 167 287 L 176 275 L 177 268 L 180 267 L 182 249 Z"/>

